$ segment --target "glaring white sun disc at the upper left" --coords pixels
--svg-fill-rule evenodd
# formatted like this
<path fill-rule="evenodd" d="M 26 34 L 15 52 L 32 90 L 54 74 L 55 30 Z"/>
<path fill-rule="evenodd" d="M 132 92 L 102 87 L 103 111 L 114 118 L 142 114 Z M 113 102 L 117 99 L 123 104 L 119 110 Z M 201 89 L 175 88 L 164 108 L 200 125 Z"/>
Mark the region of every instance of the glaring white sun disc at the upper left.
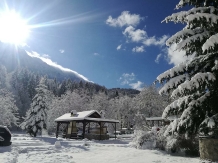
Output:
<path fill-rule="evenodd" d="M 29 36 L 27 21 L 15 11 L 0 13 L 0 40 L 16 45 L 25 44 Z"/>

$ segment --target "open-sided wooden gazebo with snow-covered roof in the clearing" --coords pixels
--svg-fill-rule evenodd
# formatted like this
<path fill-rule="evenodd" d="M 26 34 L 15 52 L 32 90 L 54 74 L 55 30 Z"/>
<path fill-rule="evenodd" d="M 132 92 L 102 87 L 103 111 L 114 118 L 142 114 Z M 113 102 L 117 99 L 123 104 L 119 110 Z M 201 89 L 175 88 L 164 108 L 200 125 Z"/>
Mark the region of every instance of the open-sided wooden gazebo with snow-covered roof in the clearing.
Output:
<path fill-rule="evenodd" d="M 96 110 L 83 112 L 73 110 L 71 113 L 58 117 L 55 122 L 57 123 L 56 138 L 61 133 L 65 138 L 90 140 L 109 139 L 107 125 L 111 124 L 116 131 L 117 123 L 119 123 L 118 120 L 103 118 Z"/>

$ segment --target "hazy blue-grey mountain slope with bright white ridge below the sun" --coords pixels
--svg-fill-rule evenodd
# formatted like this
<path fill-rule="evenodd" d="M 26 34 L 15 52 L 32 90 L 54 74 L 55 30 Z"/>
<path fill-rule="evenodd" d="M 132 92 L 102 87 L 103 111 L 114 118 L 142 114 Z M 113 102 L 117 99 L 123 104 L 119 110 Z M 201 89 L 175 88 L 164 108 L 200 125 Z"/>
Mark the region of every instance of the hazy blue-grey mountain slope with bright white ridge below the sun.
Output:
<path fill-rule="evenodd" d="M 4 65 L 9 73 L 17 68 L 27 68 L 39 75 L 47 75 L 48 78 L 56 78 L 59 81 L 64 79 L 71 79 L 73 81 L 88 81 L 88 79 L 77 72 L 72 70 L 66 71 L 58 67 L 48 65 L 40 58 L 28 55 L 28 52 L 22 48 L 1 42 L 0 64 Z"/>

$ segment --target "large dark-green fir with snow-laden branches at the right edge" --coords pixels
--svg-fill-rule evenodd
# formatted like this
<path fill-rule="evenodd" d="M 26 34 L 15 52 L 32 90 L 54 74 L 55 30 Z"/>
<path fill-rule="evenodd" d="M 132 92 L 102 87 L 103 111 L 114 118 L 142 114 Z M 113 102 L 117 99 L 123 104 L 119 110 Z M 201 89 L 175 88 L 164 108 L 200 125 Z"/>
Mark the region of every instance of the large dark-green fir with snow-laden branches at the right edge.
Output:
<path fill-rule="evenodd" d="M 186 5 L 193 8 L 164 20 L 186 24 L 167 40 L 166 45 L 176 44 L 176 51 L 182 50 L 186 56 L 191 56 L 157 77 L 164 84 L 160 93 L 169 93 L 174 99 L 162 117 L 179 117 L 170 125 L 169 132 L 196 134 L 205 119 L 218 114 L 217 4 L 216 0 L 180 0 L 177 9 Z"/>

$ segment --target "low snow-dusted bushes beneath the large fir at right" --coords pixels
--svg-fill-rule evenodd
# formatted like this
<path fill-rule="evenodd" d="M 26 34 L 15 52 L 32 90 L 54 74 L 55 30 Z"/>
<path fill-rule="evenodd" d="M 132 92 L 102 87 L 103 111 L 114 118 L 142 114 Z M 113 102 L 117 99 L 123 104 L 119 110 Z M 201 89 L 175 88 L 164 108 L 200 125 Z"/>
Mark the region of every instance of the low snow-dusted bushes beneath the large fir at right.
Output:
<path fill-rule="evenodd" d="M 165 135 L 167 126 L 159 131 L 153 127 L 151 131 L 135 130 L 132 146 L 138 149 L 165 150 L 171 153 L 184 152 L 186 156 L 199 156 L 198 136 L 186 138 L 176 133 Z"/>

